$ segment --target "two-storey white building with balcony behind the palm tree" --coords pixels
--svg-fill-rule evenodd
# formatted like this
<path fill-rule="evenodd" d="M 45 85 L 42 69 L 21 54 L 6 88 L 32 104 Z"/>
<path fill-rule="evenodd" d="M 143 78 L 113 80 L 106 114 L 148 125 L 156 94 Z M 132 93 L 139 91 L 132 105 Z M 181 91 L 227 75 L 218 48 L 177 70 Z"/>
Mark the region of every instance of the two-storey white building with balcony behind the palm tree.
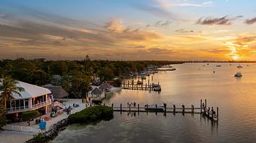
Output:
<path fill-rule="evenodd" d="M 17 82 L 17 86 L 24 88 L 25 91 L 20 92 L 21 96 L 14 94 L 14 99 L 8 101 L 8 114 L 18 116 L 21 112 L 29 110 L 38 110 L 38 112 L 46 114 L 53 103 L 50 90 L 26 82 Z"/>

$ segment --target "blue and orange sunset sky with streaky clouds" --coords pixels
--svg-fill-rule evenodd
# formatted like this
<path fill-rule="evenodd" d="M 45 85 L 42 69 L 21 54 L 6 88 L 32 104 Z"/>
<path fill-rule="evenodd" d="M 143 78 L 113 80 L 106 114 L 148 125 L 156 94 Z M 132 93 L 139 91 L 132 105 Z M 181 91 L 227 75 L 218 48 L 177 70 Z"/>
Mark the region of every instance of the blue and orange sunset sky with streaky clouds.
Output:
<path fill-rule="evenodd" d="M 256 1 L 0 0 L 0 58 L 256 60 Z"/>

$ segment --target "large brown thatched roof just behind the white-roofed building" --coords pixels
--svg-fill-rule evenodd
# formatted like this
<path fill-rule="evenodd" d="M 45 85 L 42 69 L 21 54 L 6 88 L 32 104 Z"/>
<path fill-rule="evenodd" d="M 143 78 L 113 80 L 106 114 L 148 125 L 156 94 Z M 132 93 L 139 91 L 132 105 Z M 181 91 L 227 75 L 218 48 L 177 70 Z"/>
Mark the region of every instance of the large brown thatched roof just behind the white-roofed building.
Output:
<path fill-rule="evenodd" d="M 53 98 L 59 99 L 69 96 L 67 91 L 65 91 L 61 86 L 44 85 L 43 87 L 48 88 L 52 92 Z"/>

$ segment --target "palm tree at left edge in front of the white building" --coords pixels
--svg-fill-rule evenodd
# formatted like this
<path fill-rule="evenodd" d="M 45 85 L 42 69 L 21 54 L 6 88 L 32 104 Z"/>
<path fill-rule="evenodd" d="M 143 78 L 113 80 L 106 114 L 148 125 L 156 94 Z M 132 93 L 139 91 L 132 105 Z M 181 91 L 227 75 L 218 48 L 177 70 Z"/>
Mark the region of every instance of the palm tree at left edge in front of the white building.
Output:
<path fill-rule="evenodd" d="M 17 87 L 17 81 L 12 79 L 11 76 L 2 76 L 2 84 L 0 84 L 0 107 L 6 109 L 6 103 L 8 100 L 14 99 L 14 94 L 21 97 L 20 92 L 24 91 L 24 88 Z"/>

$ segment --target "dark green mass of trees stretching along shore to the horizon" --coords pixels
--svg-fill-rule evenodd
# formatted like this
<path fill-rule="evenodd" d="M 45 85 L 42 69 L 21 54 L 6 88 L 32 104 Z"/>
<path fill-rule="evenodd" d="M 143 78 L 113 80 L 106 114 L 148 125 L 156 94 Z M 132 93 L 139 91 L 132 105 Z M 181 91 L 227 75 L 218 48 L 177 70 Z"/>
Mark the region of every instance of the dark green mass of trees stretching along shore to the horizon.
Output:
<path fill-rule="evenodd" d="M 0 75 L 33 85 L 62 85 L 70 98 L 81 98 L 90 91 L 90 82 L 96 79 L 111 81 L 124 73 L 140 72 L 151 64 L 177 64 L 178 61 L 91 61 L 89 56 L 82 61 L 45 61 L 44 59 L 0 60 Z M 60 77 L 60 81 L 56 79 Z M 58 81 L 56 81 L 58 80 Z M 120 85 L 120 81 L 112 82 Z"/>

